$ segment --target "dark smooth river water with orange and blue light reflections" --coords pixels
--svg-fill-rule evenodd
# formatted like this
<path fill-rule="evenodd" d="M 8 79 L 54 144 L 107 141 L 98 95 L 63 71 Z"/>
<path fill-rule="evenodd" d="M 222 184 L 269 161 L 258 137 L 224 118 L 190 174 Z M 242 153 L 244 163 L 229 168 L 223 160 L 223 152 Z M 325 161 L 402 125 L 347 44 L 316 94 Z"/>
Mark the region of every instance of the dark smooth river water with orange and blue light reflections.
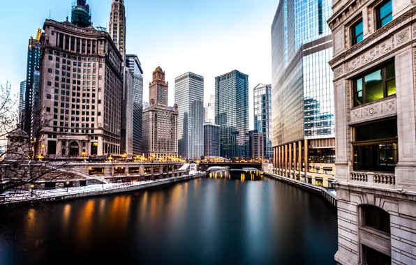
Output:
<path fill-rule="evenodd" d="M 0 238 L 0 264 L 335 264 L 329 203 L 272 179 L 229 178 L 1 210 L 18 236 Z"/>

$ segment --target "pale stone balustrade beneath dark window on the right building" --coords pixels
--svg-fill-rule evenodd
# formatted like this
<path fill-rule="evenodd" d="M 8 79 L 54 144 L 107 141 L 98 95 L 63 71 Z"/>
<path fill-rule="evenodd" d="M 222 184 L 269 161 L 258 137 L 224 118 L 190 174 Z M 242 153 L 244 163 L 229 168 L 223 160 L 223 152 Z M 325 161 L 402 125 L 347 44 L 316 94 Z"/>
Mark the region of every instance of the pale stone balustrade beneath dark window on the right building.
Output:
<path fill-rule="evenodd" d="M 373 187 L 394 188 L 396 176 L 387 172 L 350 172 L 350 183 Z"/>

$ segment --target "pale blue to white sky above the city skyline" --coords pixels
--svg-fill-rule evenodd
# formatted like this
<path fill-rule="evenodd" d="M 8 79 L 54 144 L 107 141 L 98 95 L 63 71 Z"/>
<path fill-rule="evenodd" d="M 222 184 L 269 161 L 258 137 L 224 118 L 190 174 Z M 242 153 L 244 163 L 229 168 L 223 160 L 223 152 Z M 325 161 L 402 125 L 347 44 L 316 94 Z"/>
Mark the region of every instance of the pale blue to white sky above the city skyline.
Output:
<path fill-rule="evenodd" d="M 0 1 L 0 84 L 17 95 L 26 79 L 27 45 L 45 19 L 70 20 L 75 0 Z M 94 26 L 107 27 L 112 0 L 87 0 Z M 253 88 L 272 83 L 270 28 L 278 0 L 124 0 L 126 52 L 137 54 L 144 70 L 143 100 L 157 66 L 169 82 L 187 72 L 205 79 L 205 101 L 215 77 L 232 70 L 248 75 L 249 120 L 253 129 Z"/>

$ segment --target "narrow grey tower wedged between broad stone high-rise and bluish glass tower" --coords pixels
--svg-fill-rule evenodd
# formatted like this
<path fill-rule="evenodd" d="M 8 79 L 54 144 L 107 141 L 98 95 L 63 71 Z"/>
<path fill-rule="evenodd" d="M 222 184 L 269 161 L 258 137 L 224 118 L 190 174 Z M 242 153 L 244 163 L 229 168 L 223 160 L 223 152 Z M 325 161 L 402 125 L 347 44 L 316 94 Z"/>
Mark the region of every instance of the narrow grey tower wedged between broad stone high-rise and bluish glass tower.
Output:
<path fill-rule="evenodd" d="M 124 68 L 123 101 L 121 103 L 121 153 L 133 155 L 133 89 L 134 81 L 130 68 Z"/>

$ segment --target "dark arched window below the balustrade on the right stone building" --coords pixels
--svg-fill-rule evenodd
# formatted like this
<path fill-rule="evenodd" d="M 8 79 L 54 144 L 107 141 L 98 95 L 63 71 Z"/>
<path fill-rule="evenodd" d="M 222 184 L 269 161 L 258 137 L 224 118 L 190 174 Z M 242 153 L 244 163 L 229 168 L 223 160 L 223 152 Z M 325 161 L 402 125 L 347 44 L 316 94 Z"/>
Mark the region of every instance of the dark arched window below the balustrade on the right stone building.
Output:
<path fill-rule="evenodd" d="M 362 206 L 363 225 L 390 234 L 390 215 L 373 205 Z"/>

